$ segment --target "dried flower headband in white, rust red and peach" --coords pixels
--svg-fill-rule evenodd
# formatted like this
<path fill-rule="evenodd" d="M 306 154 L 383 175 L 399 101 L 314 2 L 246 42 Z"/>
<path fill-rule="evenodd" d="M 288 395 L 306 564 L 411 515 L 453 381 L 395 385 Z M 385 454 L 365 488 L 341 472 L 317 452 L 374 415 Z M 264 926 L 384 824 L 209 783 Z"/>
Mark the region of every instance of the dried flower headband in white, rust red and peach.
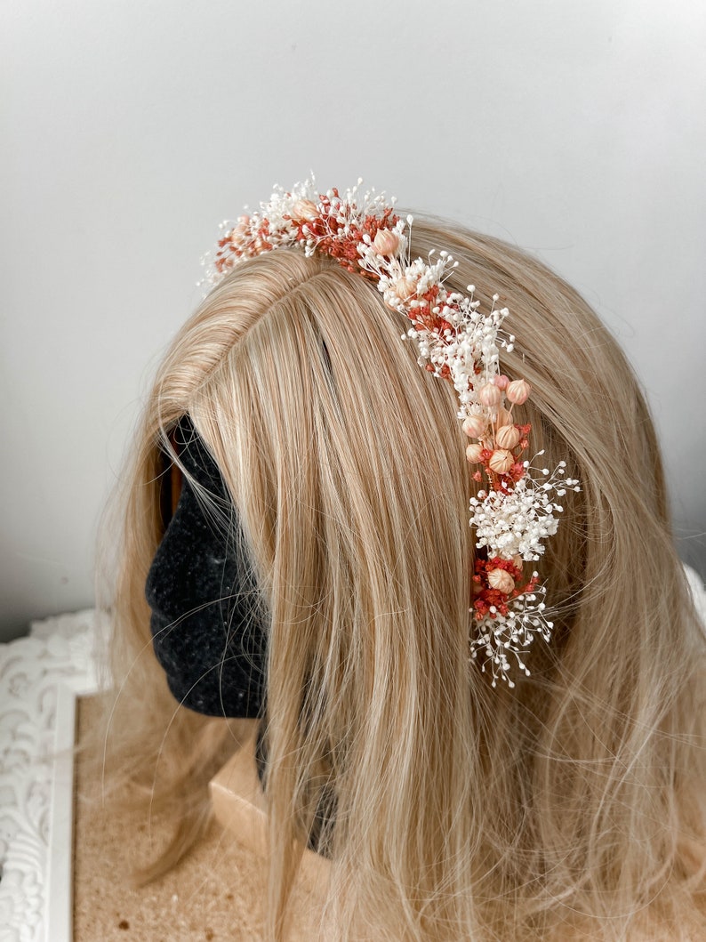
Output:
<path fill-rule="evenodd" d="M 495 307 L 499 296 L 482 314 L 473 284 L 468 295 L 449 291 L 444 283 L 458 263 L 448 252 L 412 260 L 412 217 L 396 216 L 394 200 L 386 201 L 382 193 L 361 194 L 361 183 L 344 194 L 337 189 L 319 194 L 313 179 L 286 192 L 276 187 L 261 212 L 222 223 L 217 252 L 203 259 L 203 283 L 217 284 L 243 259 L 298 247 L 307 256 L 329 255 L 375 282 L 385 303 L 409 318 L 402 339 L 416 342 L 420 365 L 453 383 L 458 418 L 473 439 L 466 448 L 475 466 L 473 479 L 486 481 L 470 503 L 481 551 L 469 609 L 475 625 L 471 657 L 482 656 L 482 670 L 488 667 L 493 687 L 499 678 L 513 687 L 509 656 L 529 675 L 522 658 L 538 635 L 549 642 L 554 626 L 544 602 L 546 589 L 536 571 L 524 575 L 524 562 L 543 554 L 544 542 L 558 525 L 554 514 L 563 510 L 555 498 L 567 489 L 578 491 L 578 481 L 565 477 L 565 462 L 550 473 L 522 460 L 531 426 L 516 422 L 513 411 L 529 397 L 530 386 L 500 371 L 500 349 L 512 350 L 515 338 L 502 329 L 509 312 Z"/>

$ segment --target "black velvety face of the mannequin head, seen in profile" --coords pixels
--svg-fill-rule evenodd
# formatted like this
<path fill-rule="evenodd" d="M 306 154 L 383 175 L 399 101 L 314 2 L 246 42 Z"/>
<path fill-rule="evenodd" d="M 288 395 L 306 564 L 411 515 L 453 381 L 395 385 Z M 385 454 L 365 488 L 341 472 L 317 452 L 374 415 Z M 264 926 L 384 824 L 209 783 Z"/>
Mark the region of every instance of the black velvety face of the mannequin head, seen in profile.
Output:
<path fill-rule="evenodd" d="M 187 416 L 173 443 L 217 512 L 184 477 L 147 577 L 154 654 L 185 707 L 208 716 L 255 718 L 264 706 L 266 642 L 238 520 L 217 465 Z"/>

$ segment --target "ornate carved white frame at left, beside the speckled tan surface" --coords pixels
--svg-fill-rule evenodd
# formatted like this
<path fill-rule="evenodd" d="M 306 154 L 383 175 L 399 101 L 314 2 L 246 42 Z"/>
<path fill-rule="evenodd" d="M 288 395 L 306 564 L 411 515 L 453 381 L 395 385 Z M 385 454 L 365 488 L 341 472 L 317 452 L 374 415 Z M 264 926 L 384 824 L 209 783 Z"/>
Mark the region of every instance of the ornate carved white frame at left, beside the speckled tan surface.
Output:
<path fill-rule="evenodd" d="M 72 936 L 75 698 L 97 689 L 92 610 L 0 644 L 0 940 Z"/>

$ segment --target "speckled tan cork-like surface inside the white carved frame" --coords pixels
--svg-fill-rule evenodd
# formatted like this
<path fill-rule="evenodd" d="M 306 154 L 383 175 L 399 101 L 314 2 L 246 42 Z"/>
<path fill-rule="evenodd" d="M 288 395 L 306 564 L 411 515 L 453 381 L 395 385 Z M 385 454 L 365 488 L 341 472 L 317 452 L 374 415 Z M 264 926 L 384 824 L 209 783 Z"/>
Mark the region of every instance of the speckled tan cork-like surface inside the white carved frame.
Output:
<path fill-rule="evenodd" d="M 90 723 L 92 711 L 91 701 L 82 700 L 79 723 Z M 168 837 L 168 822 L 111 820 L 80 757 L 76 778 L 74 942 L 264 939 L 262 857 L 214 822 L 179 866 L 152 885 L 131 888 L 131 861 L 152 858 Z M 299 904 L 313 913 L 311 901 Z M 292 940 L 313 936 L 311 922 L 308 928 L 300 922 Z"/>

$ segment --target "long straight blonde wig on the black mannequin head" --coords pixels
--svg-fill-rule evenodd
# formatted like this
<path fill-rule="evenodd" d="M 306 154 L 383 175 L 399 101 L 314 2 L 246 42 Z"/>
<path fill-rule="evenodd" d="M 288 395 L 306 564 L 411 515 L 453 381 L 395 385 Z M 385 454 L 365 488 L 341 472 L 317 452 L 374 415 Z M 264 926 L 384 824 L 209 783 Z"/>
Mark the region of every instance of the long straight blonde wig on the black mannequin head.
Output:
<path fill-rule="evenodd" d="M 473 282 L 484 305 L 498 292 L 509 307 L 503 369 L 533 388 L 522 421 L 545 462 L 567 459 L 581 480 L 538 564 L 553 641 L 533 646 L 514 690 L 469 660 L 478 485 L 455 393 L 419 368 L 404 318 L 329 259 L 244 262 L 169 349 L 125 498 L 107 741 L 180 821 L 151 873 L 197 836 L 230 741 L 225 720 L 171 698 L 144 600 L 162 454 L 188 414 L 237 509 L 267 625 L 270 936 L 328 802 L 328 939 L 703 938 L 704 645 L 644 398 L 547 268 L 415 219 L 412 255 L 441 248 L 459 263 L 454 290 Z"/>

